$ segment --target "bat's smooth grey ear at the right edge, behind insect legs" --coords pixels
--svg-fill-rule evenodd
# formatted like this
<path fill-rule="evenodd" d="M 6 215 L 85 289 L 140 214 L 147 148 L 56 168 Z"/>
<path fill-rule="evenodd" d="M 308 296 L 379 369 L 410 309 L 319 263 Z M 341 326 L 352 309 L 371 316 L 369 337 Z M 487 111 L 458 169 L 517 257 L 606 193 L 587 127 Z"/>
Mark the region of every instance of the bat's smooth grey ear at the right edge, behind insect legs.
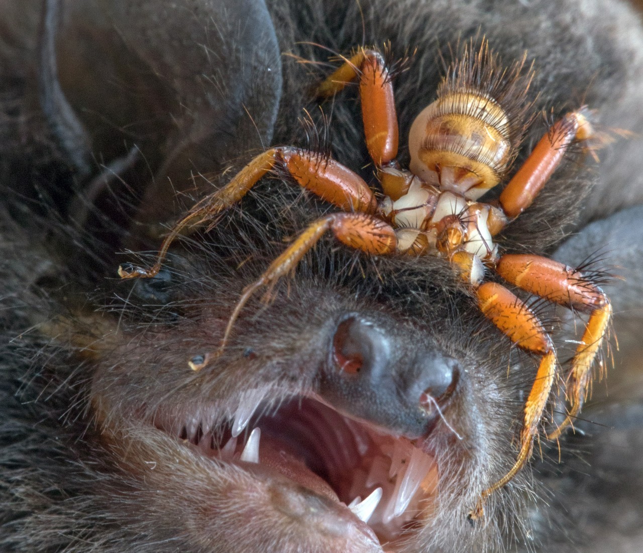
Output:
<path fill-rule="evenodd" d="M 572 235 L 554 258 L 584 272 L 610 273 L 603 289 L 610 297 L 616 322 L 643 316 L 643 206 L 628 208 L 594 221 Z"/>

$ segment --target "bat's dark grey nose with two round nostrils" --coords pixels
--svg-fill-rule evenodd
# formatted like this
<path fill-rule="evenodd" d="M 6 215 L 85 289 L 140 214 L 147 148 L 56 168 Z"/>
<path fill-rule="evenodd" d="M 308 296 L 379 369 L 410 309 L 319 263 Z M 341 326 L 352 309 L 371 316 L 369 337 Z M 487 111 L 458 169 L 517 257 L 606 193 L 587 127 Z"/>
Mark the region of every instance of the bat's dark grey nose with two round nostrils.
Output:
<path fill-rule="evenodd" d="M 419 436 L 455 392 L 460 363 L 392 319 L 352 314 L 334 329 L 321 394 L 338 408 Z"/>

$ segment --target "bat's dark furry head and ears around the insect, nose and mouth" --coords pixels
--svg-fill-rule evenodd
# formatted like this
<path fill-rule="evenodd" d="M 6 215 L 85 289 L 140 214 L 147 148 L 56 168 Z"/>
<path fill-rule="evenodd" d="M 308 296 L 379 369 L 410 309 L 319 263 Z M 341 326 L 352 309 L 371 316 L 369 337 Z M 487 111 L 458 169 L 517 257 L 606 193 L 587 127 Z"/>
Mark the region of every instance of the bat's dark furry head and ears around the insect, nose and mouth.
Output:
<path fill-rule="evenodd" d="M 250 388 L 266 387 L 276 403 L 323 395 L 329 340 L 347 314 L 394 343 L 396 383 L 417 351 L 440 352 L 460 368 L 444 420 L 429 435 L 439 503 L 406 536 L 404 551 L 643 547 L 640 134 L 601 150 L 598 167 L 570 159 L 499 240 L 569 264 L 599 252 L 604 261 L 593 268 L 618 266 L 613 272 L 627 280 L 606 291 L 621 351 L 609 397 L 595 384 L 580 432 L 561 440 L 561 462 L 557 444 L 543 439 L 473 526 L 467 512 L 480 491 L 514 461 L 535 365 L 478 314 L 447 264 L 374 259 L 325 240 L 271 303 L 249 303 L 223 356 L 197 373 L 188 360 L 217 348 L 242 288 L 329 206 L 273 176 L 212 231 L 181 240 L 155 278 L 116 277 L 120 262 L 152 260 L 123 250 L 155 251 L 165 225 L 211 190 L 200 174 L 220 186 L 227 168 L 262 147 L 306 145 L 304 109 L 318 129 L 328 125 L 332 155 L 372 180 L 356 95 L 349 89 L 325 102 L 325 117 L 311 96 L 332 70 L 329 57 L 361 44 L 390 41 L 397 57 L 417 49 L 395 78 L 402 161 L 409 125 L 433 100 L 444 60 L 457 55 L 458 41 L 483 36 L 507 66 L 527 51 L 535 111 L 556 117 L 585 103 L 612 134 L 642 131 L 643 32 L 628 6 L 68 4 L 0 0 L 0 550 L 379 550 L 350 525 L 329 532 L 328 498 L 203 458 L 154 428 L 199 410 L 215 412 L 224 427 Z M 530 127 L 516 163 L 545 128 L 539 119 Z M 563 360 L 575 349 L 565 323 L 552 323 Z M 390 399 L 378 390 L 368 401 L 344 397 L 341 407 L 368 418 L 372 405 Z M 561 409 L 552 402 L 557 420 Z M 377 416 L 398 430 L 412 426 L 404 410 Z M 294 516 L 295 500 L 321 514 Z"/>

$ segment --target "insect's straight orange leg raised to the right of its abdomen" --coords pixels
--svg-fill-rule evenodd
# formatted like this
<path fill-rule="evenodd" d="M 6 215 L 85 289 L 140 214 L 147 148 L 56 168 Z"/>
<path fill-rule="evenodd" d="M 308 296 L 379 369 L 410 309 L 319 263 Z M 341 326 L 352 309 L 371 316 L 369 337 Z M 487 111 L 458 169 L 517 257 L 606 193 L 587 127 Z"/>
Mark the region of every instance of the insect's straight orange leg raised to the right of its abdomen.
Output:
<path fill-rule="evenodd" d="M 579 111 L 568 113 L 554 123 L 500 194 L 500 205 L 507 217 L 518 217 L 532 204 L 572 141 L 591 137 L 590 123 Z"/>

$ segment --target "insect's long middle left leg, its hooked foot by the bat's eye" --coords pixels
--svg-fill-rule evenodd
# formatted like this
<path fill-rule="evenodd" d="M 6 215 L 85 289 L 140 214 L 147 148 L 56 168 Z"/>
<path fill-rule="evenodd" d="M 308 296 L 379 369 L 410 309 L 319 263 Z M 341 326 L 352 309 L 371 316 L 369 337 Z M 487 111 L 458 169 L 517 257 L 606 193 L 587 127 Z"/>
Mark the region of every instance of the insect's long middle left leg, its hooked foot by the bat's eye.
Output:
<path fill-rule="evenodd" d="M 177 222 L 163 240 L 154 266 L 149 269 L 135 267 L 132 270 L 120 266 L 118 275 L 121 278 L 147 278 L 156 275 L 170 244 L 180 233 L 201 224 L 208 224 L 210 230 L 219 213 L 239 202 L 277 164 L 284 167 L 300 186 L 344 210 L 362 213 L 373 213 L 376 210 L 376 199 L 367 183 L 341 163 L 318 152 L 293 147 L 271 148 L 250 161 L 221 190 L 204 197 L 190 213 Z"/>

